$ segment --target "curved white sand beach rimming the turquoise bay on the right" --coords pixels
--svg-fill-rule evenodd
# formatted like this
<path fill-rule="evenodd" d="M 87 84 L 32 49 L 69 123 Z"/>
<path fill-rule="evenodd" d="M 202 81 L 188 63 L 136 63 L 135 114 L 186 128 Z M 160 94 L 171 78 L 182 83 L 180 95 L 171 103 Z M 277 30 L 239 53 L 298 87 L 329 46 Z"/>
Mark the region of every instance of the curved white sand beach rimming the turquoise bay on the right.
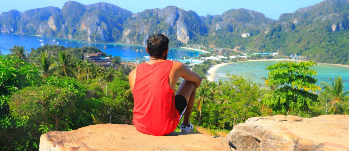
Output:
<path fill-rule="evenodd" d="M 244 60 L 244 61 L 236 61 L 236 62 L 250 62 L 250 61 L 304 61 L 304 60 L 296 60 L 296 59 L 257 59 L 257 60 Z M 207 80 L 214 82 L 214 78 L 213 76 L 215 75 L 215 72 L 218 68 L 225 66 L 225 65 L 229 65 L 231 63 L 236 63 L 236 62 L 227 62 L 227 63 L 220 63 L 217 65 L 214 65 L 212 67 L 210 67 L 207 70 Z M 340 66 L 340 67 L 348 67 L 349 65 L 341 65 L 341 64 L 333 64 L 333 63 L 317 63 L 317 64 L 323 64 L 323 65 L 333 65 L 333 66 Z"/>

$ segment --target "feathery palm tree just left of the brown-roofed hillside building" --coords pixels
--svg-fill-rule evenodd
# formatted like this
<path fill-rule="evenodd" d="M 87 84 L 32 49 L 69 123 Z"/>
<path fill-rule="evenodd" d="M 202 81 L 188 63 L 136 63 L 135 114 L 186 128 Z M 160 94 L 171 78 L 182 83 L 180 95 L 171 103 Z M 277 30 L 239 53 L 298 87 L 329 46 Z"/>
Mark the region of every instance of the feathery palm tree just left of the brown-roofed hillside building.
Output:
<path fill-rule="evenodd" d="M 59 51 L 58 60 L 54 64 L 56 68 L 56 73 L 61 76 L 75 77 L 74 68 L 75 65 L 70 59 L 70 56 L 65 52 Z"/>

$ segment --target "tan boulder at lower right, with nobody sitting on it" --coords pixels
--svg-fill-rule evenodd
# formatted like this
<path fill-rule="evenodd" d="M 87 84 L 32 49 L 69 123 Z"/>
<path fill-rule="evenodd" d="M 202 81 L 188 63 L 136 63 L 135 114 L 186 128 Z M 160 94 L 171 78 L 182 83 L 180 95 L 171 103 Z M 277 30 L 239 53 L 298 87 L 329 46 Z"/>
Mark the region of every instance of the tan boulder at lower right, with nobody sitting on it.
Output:
<path fill-rule="evenodd" d="M 344 151 L 349 150 L 349 115 L 254 117 L 237 124 L 227 138 L 238 151 Z"/>

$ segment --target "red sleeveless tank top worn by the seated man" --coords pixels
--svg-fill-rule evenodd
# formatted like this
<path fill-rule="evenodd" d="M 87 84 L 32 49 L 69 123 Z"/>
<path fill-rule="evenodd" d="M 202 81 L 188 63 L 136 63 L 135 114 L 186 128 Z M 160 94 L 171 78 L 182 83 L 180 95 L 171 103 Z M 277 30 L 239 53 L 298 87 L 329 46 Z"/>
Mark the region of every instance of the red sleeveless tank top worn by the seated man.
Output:
<path fill-rule="evenodd" d="M 179 122 L 174 108 L 174 92 L 169 84 L 173 62 L 165 60 L 137 67 L 133 86 L 133 124 L 144 134 L 162 136 L 170 134 Z"/>

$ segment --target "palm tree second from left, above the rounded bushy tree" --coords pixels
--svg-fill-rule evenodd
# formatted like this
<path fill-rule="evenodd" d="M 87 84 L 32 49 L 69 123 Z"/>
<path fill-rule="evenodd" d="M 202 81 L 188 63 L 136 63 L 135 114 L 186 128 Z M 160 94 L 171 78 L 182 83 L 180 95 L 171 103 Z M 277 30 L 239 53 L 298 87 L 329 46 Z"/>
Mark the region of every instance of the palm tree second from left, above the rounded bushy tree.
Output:
<path fill-rule="evenodd" d="M 47 52 L 41 52 L 41 56 L 38 59 L 37 64 L 44 77 L 47 77 L 52 73 L 53 58 Z"/>

